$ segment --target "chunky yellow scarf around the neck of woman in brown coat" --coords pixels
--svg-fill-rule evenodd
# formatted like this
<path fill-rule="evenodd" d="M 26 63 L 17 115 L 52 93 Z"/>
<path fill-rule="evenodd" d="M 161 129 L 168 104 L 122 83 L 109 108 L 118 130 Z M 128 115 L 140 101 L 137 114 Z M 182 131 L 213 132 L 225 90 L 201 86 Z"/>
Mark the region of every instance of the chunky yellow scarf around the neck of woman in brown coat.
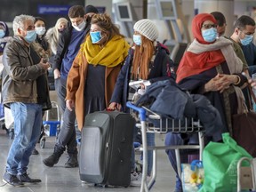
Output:
<path fill-rule="evenodd" d="M 99 44 L 92 44 L 91 36 L 87 36 L 84 44 L 81 44 L 80 51 L 85 54 L 88 64 L 113 68 L 125 60 L 129 48 L 130 45 L 122 36 L 113 36 L 100 50 Z"/>

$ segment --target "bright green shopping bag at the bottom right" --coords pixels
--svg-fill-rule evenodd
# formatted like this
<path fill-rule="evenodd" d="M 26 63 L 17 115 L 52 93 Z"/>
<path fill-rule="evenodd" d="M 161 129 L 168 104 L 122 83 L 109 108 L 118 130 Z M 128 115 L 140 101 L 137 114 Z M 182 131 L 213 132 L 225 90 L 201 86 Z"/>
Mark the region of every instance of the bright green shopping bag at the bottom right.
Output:
<path fill-rule="evenodd" d="M 229 133 L 222 134 L 223 143 L 210 142 L 203 151 L 204 185 L 199 192 L 235 192 L 237 190 L 237 162 L 252 156 L 236 144 Z M 242 164 L 249 166 L 249 164 Z"/>

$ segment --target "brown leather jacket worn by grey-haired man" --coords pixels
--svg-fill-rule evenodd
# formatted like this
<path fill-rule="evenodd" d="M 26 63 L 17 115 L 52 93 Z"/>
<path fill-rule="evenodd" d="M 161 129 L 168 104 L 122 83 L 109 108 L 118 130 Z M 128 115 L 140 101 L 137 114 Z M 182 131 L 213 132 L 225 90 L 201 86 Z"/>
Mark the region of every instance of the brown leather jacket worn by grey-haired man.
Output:
<path fill-rule="evenodd" d="M 19 36 L 14 36 L 5 46 L 2 81 L 5 107 L 12 102 L 37 103 L 36 78 L 46 72 L 41 64 L 34 65 L 29 51 Z"/>

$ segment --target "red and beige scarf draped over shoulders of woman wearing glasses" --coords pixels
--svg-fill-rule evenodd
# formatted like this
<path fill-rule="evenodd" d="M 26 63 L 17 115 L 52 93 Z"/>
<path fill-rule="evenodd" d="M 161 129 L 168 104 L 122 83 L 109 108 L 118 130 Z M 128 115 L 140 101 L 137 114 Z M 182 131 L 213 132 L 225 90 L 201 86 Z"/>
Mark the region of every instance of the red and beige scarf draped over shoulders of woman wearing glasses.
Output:
<path fill-rule="evenodd" d="M 220 37 L 213 44 L 200 44 L 194 39 L 180 60 L 176 81 L 179 83 L 183 78 L 200 74 L 225 60 L 230 74 L 242 72 L 243 63 L 237 58 L 230 40 Z"/>

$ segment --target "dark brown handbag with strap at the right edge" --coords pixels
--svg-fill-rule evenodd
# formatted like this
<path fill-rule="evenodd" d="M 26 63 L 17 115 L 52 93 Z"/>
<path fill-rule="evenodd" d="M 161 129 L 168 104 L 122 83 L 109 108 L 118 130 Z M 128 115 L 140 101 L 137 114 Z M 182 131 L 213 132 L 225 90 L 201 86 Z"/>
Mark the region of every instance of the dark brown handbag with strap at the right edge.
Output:
<path fill-rule="evenodd" d="M 254 100 L 252 87 L 248 87 Z M 233 138 L 237 144 L 253 157 L 256 157 L 256 113 L 251 110 L 244 110 L 241 114 L 233 115 L 232 128 Z"/>

